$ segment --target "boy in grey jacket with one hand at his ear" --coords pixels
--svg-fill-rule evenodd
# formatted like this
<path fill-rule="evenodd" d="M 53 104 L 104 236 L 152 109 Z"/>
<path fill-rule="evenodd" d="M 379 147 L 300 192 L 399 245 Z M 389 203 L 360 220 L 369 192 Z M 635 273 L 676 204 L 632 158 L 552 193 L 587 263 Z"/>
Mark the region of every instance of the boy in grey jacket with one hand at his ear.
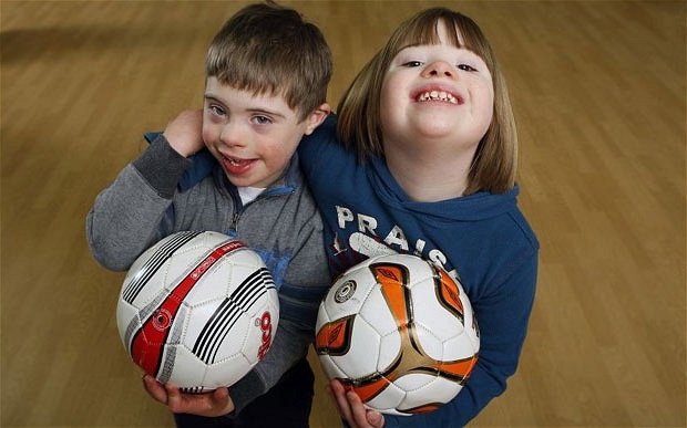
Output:
<path fill-rule="evenodd" d="M 196 396 L 144 376 L 180 427 L 308 426 L 314 376 L 306 355 L 330 281 L 321 219 L 295 152 L 330 112 L 330 76 L 331 53 L 316 25 L 274 3 L 242 9 L 209 46 L 203 113 L 184 112 L 154 135 L 88 215 L 91 251 L 112 270 L 129 269 L 172 232 L 214 230 L 258 251 L 273 273 L 279 326 L 248 375 Z M 187 157 L 203 147 L 218 163 L 184 188 Z"/>

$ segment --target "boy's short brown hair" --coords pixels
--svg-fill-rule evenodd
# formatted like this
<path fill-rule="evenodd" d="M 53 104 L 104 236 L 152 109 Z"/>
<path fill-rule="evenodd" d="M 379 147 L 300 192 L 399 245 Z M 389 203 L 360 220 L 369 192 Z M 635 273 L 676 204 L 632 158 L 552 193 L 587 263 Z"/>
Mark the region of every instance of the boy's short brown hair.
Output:
<path fill-rule="evenodd" d="M 331 51 L 317 25 L 271 1 L 236 12 L 205 59 L 206 77 L 256 95 L 280 95 L 301 121 L 326 102 L 331 69 Z"/>

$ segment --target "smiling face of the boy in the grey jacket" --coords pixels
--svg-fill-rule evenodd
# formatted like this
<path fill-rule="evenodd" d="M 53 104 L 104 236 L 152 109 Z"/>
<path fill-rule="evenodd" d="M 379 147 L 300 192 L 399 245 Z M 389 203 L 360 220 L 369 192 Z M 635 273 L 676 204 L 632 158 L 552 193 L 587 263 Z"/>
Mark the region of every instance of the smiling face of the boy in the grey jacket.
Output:
<path fill-rule="evenodd" d="M 300 138 L 326 116 L 316 111 L 299 121 L 279 95 L 254 95 L 208 77 L 203 140 L 232 184 L 264 188 L 281 177 Z"/>

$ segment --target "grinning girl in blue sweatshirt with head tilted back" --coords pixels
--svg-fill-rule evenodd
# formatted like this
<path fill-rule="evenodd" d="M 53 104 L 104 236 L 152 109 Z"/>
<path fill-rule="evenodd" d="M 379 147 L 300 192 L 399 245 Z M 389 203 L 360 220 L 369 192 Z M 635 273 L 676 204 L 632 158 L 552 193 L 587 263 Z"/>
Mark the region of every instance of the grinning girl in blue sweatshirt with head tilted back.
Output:
<path fill-rule="evenodd" d="M 299 147 L 332 274 L 389 249 L 441 264 L 472 302 L 481 351 L 461 393 L 433 413 L 382 416 L 336 380 L 329 390 L 353 427 L 463 426 L 515 372 L 536 284 L 539 243 L 516 205 L 517 138 L 499 65 L 470 18 L 428 9 L 397 29 L 338 112 L 338 128 L 330 117 Z"/>

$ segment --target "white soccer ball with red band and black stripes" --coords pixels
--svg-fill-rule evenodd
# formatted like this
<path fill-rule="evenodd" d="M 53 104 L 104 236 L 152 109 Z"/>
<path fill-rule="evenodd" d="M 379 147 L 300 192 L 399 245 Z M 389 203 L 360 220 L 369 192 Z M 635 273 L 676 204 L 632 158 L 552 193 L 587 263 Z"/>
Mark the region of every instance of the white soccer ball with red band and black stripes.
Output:
<path fill-rule="evenodd" d="M 178 232 L 131 267 L 116 309 L 133 361 L 185 393 L 230 386 L 271 345 L 279 319 L 260 257 L 217 232 Z"/>

